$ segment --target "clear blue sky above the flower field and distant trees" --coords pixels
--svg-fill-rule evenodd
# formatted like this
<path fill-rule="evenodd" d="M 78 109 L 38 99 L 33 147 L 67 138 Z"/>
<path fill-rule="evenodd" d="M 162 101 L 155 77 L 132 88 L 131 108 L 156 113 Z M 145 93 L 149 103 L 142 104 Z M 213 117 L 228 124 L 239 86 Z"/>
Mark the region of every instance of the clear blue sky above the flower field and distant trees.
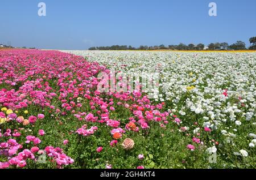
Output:
<path fill-rule="evenodd" d="M 110 45 L 208 45 L 256 36 L 256 1 L 0 0 L 0 44 L 40 49 Z M 38 3 L 46 16 L 38 16 Z M 217 16 L 209 16 L 216 2 Z"/>

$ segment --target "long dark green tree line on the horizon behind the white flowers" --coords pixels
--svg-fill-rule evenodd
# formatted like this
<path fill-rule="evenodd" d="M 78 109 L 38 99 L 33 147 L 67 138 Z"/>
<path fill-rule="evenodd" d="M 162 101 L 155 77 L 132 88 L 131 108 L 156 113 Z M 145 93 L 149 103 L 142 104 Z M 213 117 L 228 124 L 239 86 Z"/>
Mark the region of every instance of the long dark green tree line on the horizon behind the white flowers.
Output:
<path fill-rule="evenodd" d="M 256 50 L 256 37 L 250 38 L 250 50 Z M 253 44 L 253 45 L 251 45 Z M 168 50 L 246 50 L 245 42 L 237 41 L 234 44 L 229 45 L 228 42 L 216 42 L 210 43 L 208 46 L 204 44 L 188 44 L 185 45 L 180 43 L 179 45 L 160 45 L 160 46 L 139 46 L 135 48 L 133 46 L 126 46 L 126 45 L 114 45 L 114 46 L 100 46 L 100 47 L 92 47 L 89 50 L 161 50 L 161 49 L 168 49 Z"/>

